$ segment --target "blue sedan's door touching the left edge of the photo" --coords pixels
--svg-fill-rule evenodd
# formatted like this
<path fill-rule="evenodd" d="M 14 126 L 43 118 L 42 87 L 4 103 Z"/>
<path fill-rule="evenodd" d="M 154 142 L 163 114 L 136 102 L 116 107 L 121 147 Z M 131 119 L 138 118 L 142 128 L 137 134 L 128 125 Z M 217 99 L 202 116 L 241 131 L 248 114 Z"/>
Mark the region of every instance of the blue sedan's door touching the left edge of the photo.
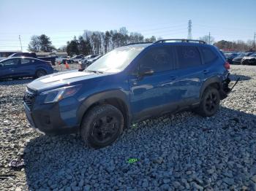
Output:
<path fill-rule="evenodd" d="M 1 62 L 0 66 L 0 77 L 17 77 L 19 74 L 18 69 L 19 58 L 8 59 L 7 61 Z"/>

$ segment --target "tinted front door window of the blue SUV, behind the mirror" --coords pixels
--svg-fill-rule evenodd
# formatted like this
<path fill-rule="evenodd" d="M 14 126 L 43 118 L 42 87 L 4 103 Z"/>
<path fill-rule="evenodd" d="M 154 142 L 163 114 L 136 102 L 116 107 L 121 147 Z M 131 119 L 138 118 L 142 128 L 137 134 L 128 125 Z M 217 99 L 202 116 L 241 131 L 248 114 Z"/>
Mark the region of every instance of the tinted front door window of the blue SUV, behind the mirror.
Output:
<path fill-rule="evenodd" d="M 173 69 L 174 56 L 169 47 L 153 47 L 140 58 L 140 70 L 152 69 L 154 72 Z"/>

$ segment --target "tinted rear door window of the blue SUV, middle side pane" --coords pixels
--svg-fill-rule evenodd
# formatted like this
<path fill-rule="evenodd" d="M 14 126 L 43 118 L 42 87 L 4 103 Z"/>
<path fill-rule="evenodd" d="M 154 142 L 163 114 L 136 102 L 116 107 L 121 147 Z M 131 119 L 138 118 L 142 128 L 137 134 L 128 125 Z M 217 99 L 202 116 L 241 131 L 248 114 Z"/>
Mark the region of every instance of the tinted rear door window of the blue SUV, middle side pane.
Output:
<path fill-rule="evenodd" d="M 178 54 L 179 69 L 201 65 L 202 62 L 197 47 L 177 46 L 176 50 Z"/>

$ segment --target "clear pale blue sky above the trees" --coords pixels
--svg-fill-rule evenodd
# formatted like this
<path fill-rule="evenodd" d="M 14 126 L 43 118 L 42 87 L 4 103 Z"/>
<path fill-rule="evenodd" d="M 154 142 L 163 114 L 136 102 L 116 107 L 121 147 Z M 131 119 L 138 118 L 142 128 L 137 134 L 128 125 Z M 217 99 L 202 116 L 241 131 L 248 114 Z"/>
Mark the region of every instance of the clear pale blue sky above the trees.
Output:
<path fill-rule="evenodd" d="M 129 32 L 184 39 L 192 20 L 192 39 L 253 39 L 256 0 L 0 0 L 0 50 L 26 51 L 32 35 L 50 36 L 55 47 L 84 30 Z"/>

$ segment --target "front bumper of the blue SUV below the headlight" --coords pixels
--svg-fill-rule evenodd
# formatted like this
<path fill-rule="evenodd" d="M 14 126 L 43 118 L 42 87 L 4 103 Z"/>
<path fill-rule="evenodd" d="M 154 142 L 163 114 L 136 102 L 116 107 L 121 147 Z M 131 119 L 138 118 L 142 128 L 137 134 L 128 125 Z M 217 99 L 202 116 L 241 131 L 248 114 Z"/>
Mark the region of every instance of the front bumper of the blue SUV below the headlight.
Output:
<path fill-rule="evenodd" d="M 44 104 L 36 109 L 30 109 L 25 102 L 23 107 L 26 112 L 26 117 L 31 127 L 37 132 L 46 135 L 58 135 L 67 133 L 76 133 L 79 125 L 67 124 L 63 117 L 59 104 Z"/>

